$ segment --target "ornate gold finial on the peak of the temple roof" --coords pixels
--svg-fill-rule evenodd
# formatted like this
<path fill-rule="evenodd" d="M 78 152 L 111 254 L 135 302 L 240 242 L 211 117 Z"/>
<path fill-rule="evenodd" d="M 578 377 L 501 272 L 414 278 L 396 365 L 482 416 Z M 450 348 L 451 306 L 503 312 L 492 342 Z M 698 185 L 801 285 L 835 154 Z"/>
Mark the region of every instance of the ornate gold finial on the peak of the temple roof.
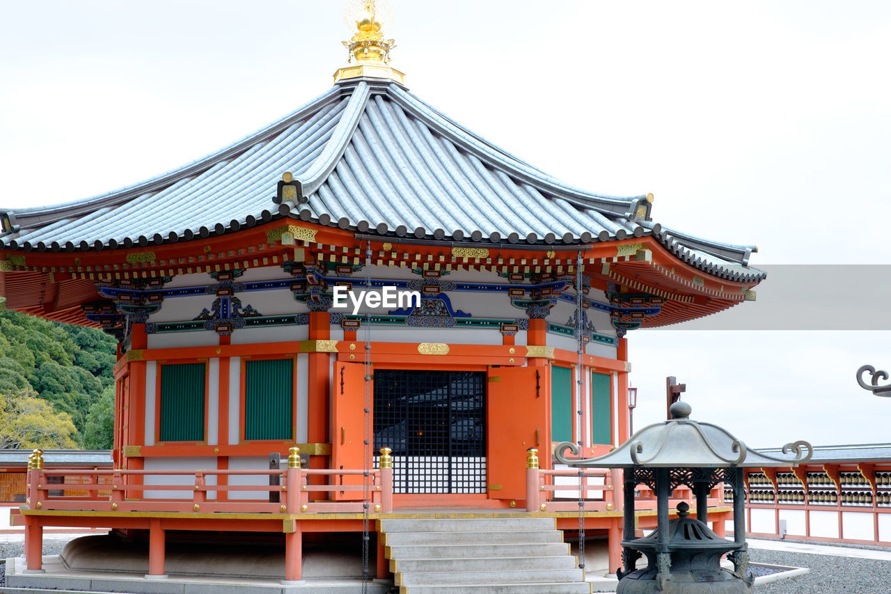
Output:
<path fill-rule="evenodd" d="M 348 62 L 334 73 L 334 82 L 346 78 L 389 78 L 405 83 L 405 74 L 388 66 L 389 51 L 396 47 L 393 39 L 385 39 L 381 32 L 392 21 L 392 10 L 386 0 L 351 0 L 344 12 L 350 28 L 356 34 L 347 46 Z M 355 62 L 355 64 L 353 63 Z"/>

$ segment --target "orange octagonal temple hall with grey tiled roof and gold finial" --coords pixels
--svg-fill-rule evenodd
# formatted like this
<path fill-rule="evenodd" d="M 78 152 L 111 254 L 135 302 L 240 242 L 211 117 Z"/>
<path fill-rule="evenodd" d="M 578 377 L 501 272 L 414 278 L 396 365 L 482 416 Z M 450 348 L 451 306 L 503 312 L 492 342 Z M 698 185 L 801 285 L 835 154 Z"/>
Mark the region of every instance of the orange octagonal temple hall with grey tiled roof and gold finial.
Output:
<path fill-rule="evenodd" d="M 370 523 L 372 573 L 398 584 L 387 518 L 572 532 L 580 491 L 584 532 L 620 565 L 619 471 L 580 490 L 552 446 L 625 441 L 629 331 L 754 299 L 756 248 L 662 226 L 646 191 L 568 186 L 463 128 L 409 91 L 365 4 L 351 61 L 282 120 L 108 194 L 0 208 L 5 307 L 119 340 L 113 490 L 53 497 L 35 482 L 62 471 L 34 458 L 29 568 L 44 527 L 88 519 L 146 535 L 155 576 L 165 532 L 275 533 L 296 582 L 303 539 Z M 723 532 L 722 488 L 709 505 Z"/>

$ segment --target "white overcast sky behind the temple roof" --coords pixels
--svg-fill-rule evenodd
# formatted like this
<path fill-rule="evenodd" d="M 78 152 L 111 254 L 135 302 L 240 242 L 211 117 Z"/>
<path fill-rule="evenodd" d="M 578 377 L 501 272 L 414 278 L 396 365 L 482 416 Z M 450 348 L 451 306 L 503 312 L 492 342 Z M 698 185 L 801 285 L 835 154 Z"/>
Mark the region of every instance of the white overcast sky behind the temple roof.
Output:
<path fill-rule="evenodd" d="M 393 5 L 413 93 L 553 176 L 652 192 L 654 219 L 757 244 L 754 266 L 891 264 L 891 3 Z M 350 35 L 340 0 L 0 0 L 0 205 L 214 152 L 321 95 Z M 876 307 L 849 289 L 847 315 Z M 751 446 L 891 441 L 891 399 L 854 382 L 891 367 L 891 332 L 677 328 L 629 334 L 636 427 L 677 375 Z"/>

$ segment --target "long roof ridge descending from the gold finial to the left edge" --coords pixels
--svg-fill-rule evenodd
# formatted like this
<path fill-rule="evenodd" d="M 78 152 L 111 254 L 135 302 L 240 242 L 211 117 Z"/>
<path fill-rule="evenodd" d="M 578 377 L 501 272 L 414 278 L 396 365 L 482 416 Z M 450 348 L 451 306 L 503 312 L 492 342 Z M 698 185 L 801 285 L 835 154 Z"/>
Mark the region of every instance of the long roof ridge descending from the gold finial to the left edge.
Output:
<path fill-rule="evenodd" d="M 249 149 L 252 144 L 257 144 L 257 142 L 260 142 L 266 137 L 274 136 L 293 123 L 302 120 L 306 118 L 307 115 L 317 111 L 323 107 L 324 104 L 330 103 L 332 100 L 337 100 L 340 97 L 341 89 L 339 87 L 331 87 L 322 95 L 319 95 L 314 100 L 306 103 L 298 110 L 291 112 L 281 120 L 275 121 L 264 128 L 260 128 L 256 132 L 244 136 L 241 140 L 235 141 L 233 144 L 229 144 L 215 153 L 209 153 L 208 155 L 187 163 L 182 167 L 170 169 L 131 186 L 124 186 L 117 190 L 112 190 L 104 194 L 97 194 L 86 199 L 61 202 L 49 206 L 36 206 L 22 209 L 0 208 L 0 215 L 12 214 L 15 218 L 15 224 L 20 227 L 39 227 L 65 217 L 76 216 L 105 206 L 114 206 L 138 197 L 141 194 L 162 190 L 165 187 L 175 184 L 183 177 L 200 174 L 204 170 L 213 167 L 217 162 L 225 161 L 225 159 Z"/>

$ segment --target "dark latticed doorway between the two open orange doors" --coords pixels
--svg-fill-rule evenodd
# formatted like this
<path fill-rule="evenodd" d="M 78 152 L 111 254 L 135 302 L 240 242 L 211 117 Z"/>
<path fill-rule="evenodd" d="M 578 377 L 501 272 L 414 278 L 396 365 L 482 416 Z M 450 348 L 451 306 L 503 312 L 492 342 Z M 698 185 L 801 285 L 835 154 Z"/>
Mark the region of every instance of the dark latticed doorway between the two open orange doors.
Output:
<path fill-rule="evenodd" d="M 396 493 L 486 492 L 486 373 L 374 370 L 374 451 Z"/>

